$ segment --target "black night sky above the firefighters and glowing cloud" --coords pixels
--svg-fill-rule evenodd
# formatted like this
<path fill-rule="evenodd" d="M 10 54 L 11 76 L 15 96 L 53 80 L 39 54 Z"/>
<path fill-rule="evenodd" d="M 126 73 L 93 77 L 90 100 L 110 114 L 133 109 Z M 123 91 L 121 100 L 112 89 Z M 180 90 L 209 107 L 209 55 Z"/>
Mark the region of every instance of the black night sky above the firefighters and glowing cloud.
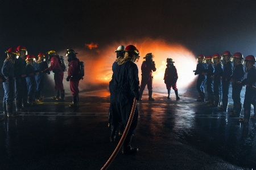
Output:
<path fill-rule="evenodd" d="M 37 55 L 147 37 L 195 55 L 256 56 L 256 1 L 1 1 L 0 8 L 1 61 L 18 45 Z"/>

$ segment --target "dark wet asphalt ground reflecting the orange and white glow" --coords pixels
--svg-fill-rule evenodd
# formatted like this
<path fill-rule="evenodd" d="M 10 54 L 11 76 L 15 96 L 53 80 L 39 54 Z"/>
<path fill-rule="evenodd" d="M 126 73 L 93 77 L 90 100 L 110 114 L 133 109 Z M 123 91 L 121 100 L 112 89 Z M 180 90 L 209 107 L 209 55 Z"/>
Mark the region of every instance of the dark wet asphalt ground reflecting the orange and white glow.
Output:
<path fill-rule="evenodd" d="M 1 112 L 1 170 L 103 167 L 118 144 L 109 140 L 108 90 L 81 93 L 77 109 L 69 108 L 72 97 L 66 96 L 64 102 L 46 97 L 16 118 Z M 197 96 L 195 86 L 179 101 L 173 90 L 171 99 L 153 93 L 155 101 L 144 92 L 132 143 L 139 152 L 119 151 L 108 169 L 256 169 L 256 122 L 229 117 L 232 99 L 229 111 L 221 112 L 196 102 Z"/>

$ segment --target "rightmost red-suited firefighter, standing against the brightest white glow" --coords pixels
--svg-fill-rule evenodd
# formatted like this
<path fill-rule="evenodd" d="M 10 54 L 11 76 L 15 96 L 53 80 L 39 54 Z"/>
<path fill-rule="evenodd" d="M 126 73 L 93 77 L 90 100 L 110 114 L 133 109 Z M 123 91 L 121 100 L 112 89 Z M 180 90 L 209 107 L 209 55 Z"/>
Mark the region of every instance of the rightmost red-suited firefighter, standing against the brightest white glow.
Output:
<path fill-rule="evenodd" d="M 164 83 L 166 84 L 167 92 L 168 92 L 168 99 L 170 99 L 170 93 L 171 93 L 171 88 L 174 90 L 176 94 L 176 100 L 180 99 L 179 94 L 177 92 L 177 87 L 176 87 L 176 82 L 177 82 L 177 69 L 174 66 L 174 61 L 172 59 L 167 58 L 167 68 L 166 71 L 164 72 Z"/>

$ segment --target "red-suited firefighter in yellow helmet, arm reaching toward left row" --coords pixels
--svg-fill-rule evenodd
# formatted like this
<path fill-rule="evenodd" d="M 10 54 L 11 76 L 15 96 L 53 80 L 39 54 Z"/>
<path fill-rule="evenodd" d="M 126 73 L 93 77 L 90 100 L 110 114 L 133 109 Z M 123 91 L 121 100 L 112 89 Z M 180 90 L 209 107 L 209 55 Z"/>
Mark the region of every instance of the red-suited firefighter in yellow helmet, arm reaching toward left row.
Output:
<path fill-rule="evenodd" d="M 56 99 L 58 101 L 64 101 L 65 97 L 65 90 L 63 87 L 63 76 L 64 72 L 61 70 L 61 63 L 58 59 L 59 56 L 57 56 L 56 51 L 49 51 L 48 52 L 48 62 L 51 63 L 51 65 L 44 70 L 44 72 L 52 71 L 54 73 L 54 82 L 55 82 L 55 96 L 51 99 Z"/>

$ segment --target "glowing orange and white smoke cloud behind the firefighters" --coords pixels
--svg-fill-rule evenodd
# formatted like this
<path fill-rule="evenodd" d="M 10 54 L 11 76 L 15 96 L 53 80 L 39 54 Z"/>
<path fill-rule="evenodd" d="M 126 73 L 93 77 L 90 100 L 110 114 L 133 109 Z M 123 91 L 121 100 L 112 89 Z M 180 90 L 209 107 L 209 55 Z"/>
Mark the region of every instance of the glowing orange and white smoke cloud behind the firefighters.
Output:
<path fill-rule="evenodd" d="M 156 72 L 153 72 L 153 90 L 154 92 L 166 93 L 166 85 L 164 84 L 164 71 L 166 69 L 166 59 L 171 58 L 175 61 L 174 65 L 178 73 L 177 88 L 180 92 L 184 91 L 189 84 L 195 79 L 193 70 L 196 69 L 196 57 L 191 51 L 180 44 L 168 44 L 162 39 L 144 38 L 134 41 L 112 42 L 109 44 L 90 43 L 85 49 L 74 49 L 77 58 L 85 63 L 84 80 L 80 81 L 79 89 L 96 90 L 100 88 L 108 89 L 109 81 L 112 78 L 112 64 L 116 59 L 114 52 L 119 45 L 133 44 L 140 53 L 140 60 L 137 63 L 139 69 L 139 80 L 141 81 L 141 64 L 143 57 L 147 53 L 152 53 L 155 57 L 153 60 L 156 64 Z M 65 50 L 61 51 L 59 55 L 65 56 Z M 67 62 L 67 58 L 65 59 Z M 67 63 L 68 65 L 68 63 Z M 69 82 L 65 81 L 67 72 L 64 73 L 64 88 L 69 89 Z"/>

